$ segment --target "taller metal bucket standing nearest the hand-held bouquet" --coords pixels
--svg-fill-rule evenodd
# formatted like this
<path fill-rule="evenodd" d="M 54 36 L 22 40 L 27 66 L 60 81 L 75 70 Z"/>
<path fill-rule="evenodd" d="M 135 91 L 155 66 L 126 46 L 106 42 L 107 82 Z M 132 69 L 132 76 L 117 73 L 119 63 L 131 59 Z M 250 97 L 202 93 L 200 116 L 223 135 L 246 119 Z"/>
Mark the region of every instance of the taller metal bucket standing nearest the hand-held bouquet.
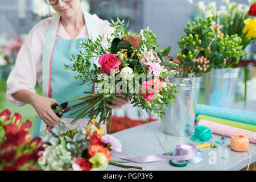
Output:
<path fill-rule="evenodd" d="M 191 135 L 195 129 L 195 108 L 199 97 L 201 77 L 175 78 L 171 77 L 173 84 L 183 84 L 178 87 L 175 94 L 176 103 L 165 107 L 163 115 L 167 134 L 183 137 Z"/>

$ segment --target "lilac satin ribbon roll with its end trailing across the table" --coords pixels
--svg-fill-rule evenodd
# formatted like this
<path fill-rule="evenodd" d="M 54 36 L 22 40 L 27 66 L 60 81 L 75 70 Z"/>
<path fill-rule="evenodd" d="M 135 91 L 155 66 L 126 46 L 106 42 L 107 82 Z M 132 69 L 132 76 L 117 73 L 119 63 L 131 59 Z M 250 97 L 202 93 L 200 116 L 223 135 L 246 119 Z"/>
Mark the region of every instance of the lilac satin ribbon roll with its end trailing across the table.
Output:
<path fill-rule="evenodd" d="M 144 155 L 134 158 L 127 158 L 121 152 L 113 151 L 112 154 L 119 159 L 128 160 L 134 163 L 148 163 L 159 160 L 190 160 L 197 156 L 197 148 L 190 143 L 181 143 L 176 146 L 176 155 Z"/>

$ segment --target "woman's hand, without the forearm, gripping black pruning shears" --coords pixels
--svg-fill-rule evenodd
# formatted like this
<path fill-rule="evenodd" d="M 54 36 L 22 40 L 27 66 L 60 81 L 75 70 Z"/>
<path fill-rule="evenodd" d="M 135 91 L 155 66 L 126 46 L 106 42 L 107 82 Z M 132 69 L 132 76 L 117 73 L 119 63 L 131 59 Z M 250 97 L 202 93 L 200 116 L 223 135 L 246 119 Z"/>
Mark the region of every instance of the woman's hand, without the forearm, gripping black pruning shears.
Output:
<path fill-rule="evenodd" d="M 31 105 L 35 108 L 36 113 L 48 126 L 55 126 L 59 123 L 60 118 L 53 112 L 51 104 L 58 102 L 53 98 L 39 96 L 35 94 L 32 98 Z"/>

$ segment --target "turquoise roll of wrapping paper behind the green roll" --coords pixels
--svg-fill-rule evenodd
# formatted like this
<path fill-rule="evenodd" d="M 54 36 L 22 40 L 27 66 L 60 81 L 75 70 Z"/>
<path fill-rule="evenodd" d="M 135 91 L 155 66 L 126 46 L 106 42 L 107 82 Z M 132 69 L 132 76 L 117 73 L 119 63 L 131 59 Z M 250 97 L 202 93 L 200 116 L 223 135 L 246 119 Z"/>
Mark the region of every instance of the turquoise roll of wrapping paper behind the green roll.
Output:
<path fill-rule="evenodd" d="M 196 115 L 199 114 L 256 125 L 256 112 L 253 111 L 197 104 Z"/>

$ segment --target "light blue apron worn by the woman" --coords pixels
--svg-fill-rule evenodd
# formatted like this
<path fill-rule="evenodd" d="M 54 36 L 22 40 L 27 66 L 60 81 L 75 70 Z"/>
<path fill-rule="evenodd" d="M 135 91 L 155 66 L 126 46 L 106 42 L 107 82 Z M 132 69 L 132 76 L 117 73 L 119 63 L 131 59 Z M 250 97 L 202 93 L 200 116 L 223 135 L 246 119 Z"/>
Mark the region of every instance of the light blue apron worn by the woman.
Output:
<path fill-rule="evenodd" d="M 92 37 L 94 40 L 98 36 L 96 24 L 94 22 L 93 16 L 88 12 L 84 11 L 84 18 L 86 22 L 86 27 L 88 30 L 88 35 Z M 80 54 L 80 45 L 79 43 L 83 39 L 59 39 L 56 38 L 57 30 L 60 24 L 60 15 L 56 15 L 52 23 L 50 24 L 47 34 L 46 40 L 43 48 L 43 96 L 55 98 L 57 102 L 62 104 L 63 102 L 67 102 L 72 98 L 84 96 L 84 92 L 92 92 L 93 84 L 88 85 L 77 85 L 77 80 L 75 80 L 75 76 L 78 75 L 77 72 L 73 72 L 70 70 L 64 69 L 64 64 L 72 65 L 71 57 L 72 54 L 77 56 Z M 93 68 L 93 59 L 92 66 Z M 98 65 L 98 63 L 95 63 Z M 69 103 L 70 105 L 75 105 L 81 100 L 72 101 Z M 73 110 L 75 111 L 75 110 Z M 72 118 L 73 115 L 69 115 L 73 111 L 69 111 L 68 113 L 64 113 L 64 118 Z M 75 114 L 76 115 L 76 114 Z M 89 118 L 86 115 L 84 118 Z M 64 119 L 65 120 L 65 119 Z M 36 115 L 33 129 L 33 138 L 40 135 L 40 131 L 46 130 L 46 124 Z M 106 130 L 106 127 L 105 127 Z M 106 133 L 106 131 L 104 131 Z"/>

